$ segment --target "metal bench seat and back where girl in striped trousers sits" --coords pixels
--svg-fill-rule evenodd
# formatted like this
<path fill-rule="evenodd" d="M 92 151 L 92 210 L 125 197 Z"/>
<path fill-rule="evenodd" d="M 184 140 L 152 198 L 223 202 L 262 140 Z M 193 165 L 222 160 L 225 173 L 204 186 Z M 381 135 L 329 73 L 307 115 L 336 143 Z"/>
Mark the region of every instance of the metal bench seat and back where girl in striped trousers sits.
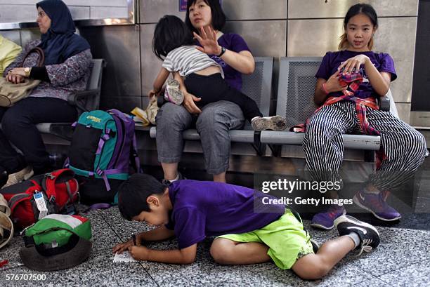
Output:
<path fill-rule="evenodd" d="M 281 58 L 276 114 L 285 116 L 288 126 L 303 124 L 317 108 L 313 102 L 316 78 L 322 58 Z M 398 116 L 393 105 L 391 91 L 381 97 L 382 109 L 389 109 Z M 372 135 L 342 135 L 346 149 L 379 150 L 381 138 Z M 276 145 L 301 145 L 304 133 L 290 131 L 262 131 L 261 143 L 268 144 L 275 156 L 279 154 Z"/>

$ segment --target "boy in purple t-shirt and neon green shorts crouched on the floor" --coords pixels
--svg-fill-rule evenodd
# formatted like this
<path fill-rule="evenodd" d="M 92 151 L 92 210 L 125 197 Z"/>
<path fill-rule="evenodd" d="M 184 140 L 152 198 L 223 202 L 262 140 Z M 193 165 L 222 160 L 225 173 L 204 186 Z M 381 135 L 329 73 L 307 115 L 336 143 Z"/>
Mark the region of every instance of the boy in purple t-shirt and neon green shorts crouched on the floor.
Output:
<path fill-rule="evenodd" d="M 220 182 L 178 180 L 167 187 L 150 175 L 134 174 L 119 187 L 119 211 L 127 220 L 157 228 L 138 234 L 137 246 L 130 240 L 115 246 L 113 253 L 128 249 L 136 260 L 190 264 L 195 261 L 197 243 L 217 236 L 210 253 L 219 264 L 272 260 L 302 279 L 320 279 L 353 249 L 369 252 L 379 244 L 377 229 L 344 215 L 335 221 L 340 236 L 314 253 L 299 215 L 283 205 L 262 204 L 266 196 L 270 195 Z M 141 246 L 141 241 L 172 236 L 178 239 L 178 249 Z"/>

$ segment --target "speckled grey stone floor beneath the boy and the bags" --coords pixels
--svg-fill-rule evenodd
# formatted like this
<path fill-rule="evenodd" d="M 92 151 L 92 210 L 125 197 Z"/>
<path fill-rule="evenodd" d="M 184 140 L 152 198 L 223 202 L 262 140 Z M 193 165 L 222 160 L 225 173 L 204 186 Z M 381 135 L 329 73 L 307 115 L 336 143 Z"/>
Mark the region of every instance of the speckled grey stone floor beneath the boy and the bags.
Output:
<path fill-rule="evenodd" d="M 148 226 L 122 219 L 116 207 L 84 215 L 91 218 L 93 231 L 93 250 L 86 262 L 58 272 L 33 272 L 20 265 L 18 251 L 23 242 L 17 236 L 0 251 L 0 259 L 10 261 L 0 269 L 1 286 L 430 286 L 429 230 L 378 227 L 381 244 L 377 250 L 359 258 L 348 255 L 323 280 L 303 281 L 272 263 L 218 265 L 209 255 L 210 239 L 200 243 L 192 265 L 113 263 L 112 246 Z M 310 232 L 319 243 L 337 236 L 334 230 L 310 228 Z M 172 240 L 149 247 L 175 246 Z M 6 281 L 6 274 L 46 274 L 46 280 Z"/>

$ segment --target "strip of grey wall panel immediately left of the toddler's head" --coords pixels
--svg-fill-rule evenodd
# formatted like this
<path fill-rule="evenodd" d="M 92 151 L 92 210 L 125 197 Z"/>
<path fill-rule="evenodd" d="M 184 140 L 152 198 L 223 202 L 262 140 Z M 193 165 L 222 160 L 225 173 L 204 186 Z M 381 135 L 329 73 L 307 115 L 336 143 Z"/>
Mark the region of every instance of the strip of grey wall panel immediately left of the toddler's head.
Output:
<path fill-rule="evenodd" d="M 142 95 L 144 96 L 152 89 L 152 84 L 162 65 L 162 61 L 152 53 L 154 29 L 154 24 L 141 25 Z"/>

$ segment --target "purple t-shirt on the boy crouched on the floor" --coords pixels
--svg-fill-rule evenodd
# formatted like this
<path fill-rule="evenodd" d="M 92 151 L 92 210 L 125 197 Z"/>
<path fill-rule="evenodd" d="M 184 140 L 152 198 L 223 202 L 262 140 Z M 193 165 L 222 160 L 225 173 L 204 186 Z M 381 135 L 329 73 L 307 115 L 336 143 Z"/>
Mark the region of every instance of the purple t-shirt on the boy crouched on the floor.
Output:
<path fill-rule="evenodd" d="M 240 234 L 260 229 L 278 220 L 283 205 L 258 205 L 262 197 L 275 197 L 247 187 L 220 182 L 178 180 L 169 186 L 173 205 L 168 229 L 174 230 L 179 248 L 187 248 L 206 236 Z M 265 212 L 266 211 L 266 212 Z M 267 212 L 271 211 L 271 212 Z"/>

